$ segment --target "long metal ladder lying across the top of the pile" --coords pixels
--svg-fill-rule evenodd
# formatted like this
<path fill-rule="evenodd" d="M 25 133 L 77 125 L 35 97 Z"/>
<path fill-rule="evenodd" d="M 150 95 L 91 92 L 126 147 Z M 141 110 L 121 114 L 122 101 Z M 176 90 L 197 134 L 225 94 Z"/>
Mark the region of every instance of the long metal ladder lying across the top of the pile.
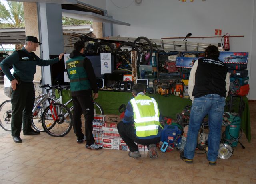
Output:
<path fill-rule="evenodd" d="M 136 38 L 130 37 L 104 37 L 104 40 L 109 41 L 128 41 L 134 42 Z M 164 39 L 149 39 L 152 46 L 156 50 L 164 51 L 205 51 L 205 48 L 209 45 L 218 46 L 217 43 L 199 43 L 199 42 L 188 42 L 188 41 L 174 41 L 174 40 L 164 40 Z M 146 43 L 146 42 L 145 42 Z"/>

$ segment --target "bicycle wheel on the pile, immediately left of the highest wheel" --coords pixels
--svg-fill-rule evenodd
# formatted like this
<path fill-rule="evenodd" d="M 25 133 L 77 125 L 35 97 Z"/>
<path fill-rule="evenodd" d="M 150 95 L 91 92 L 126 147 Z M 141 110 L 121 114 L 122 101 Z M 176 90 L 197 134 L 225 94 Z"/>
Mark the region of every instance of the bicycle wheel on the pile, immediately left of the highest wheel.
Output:
<path fill-rule="evenodd" d="M 134 43 L 122 43 L 116 49 L 116 68 L 119 70 L 132 69 L 132 55 L 131 51 L 137 52 L 137 64 L 140 62 L 140 51 Z"/>

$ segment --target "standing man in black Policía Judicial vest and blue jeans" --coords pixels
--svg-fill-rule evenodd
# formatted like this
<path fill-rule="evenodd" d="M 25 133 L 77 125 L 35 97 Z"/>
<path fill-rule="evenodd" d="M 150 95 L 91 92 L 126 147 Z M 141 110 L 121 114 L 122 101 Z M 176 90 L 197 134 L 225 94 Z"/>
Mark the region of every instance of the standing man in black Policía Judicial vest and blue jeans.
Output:
<path fill-rule="evenodd" d="M 222 115 L 229 91 L 229 73 L 226 64 L 218 59 L 218 48 L 210 45 L 206 57 L 198 59 L 192 67 L 188 82 L 188 94 L 192 100 L 188 136 L 180 158 L 192 163 L 201 122 L 208 114 L 208 153 L 210 165 L 216 165 L 220 145 Z"/>

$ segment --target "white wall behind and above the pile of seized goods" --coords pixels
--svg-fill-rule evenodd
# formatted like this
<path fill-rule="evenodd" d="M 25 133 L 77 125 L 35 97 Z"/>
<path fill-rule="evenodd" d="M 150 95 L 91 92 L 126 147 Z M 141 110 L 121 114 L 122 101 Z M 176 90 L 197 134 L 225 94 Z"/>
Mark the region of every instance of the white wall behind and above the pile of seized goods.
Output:
<path fill-rule="evenodd" d="M 192 33 L 192 37 L 199 37 L 215 36 L 215 29 L 222 29 L 222 35 L 228 32 L 230 35 L 244 35 L 244 37 L 230 38 L 230 51 L 249 52 L 248 76 L 251 88 L 249 99 L 256 99 L 256 87 L 253 86 L 256 72 L 252 73 L 256 70 L 256 64 L 253 63 L 256 61 L 254 0 L 206 0 L 205 2 L 142 0 L 140 5 L 132 2 L 133 0 L 106 0 L 108 15 L 131 24 L 130 27 L 114 25 L 114 35 L 161 39 L 184 37 L 187 33 Z M 220 38 L 188 39 L 188 41 L 221 43 Z"/>

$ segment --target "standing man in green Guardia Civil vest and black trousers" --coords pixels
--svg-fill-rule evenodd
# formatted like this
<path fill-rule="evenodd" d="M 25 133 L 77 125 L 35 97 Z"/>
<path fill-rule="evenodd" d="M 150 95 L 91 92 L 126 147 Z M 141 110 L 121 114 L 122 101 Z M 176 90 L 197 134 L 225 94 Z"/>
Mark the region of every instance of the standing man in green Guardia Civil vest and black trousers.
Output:
<path fill-rule="evenodd" d="M 86 148 L 101 149 L 95 143 L 92 135 L 92 121 L 94 119 L 93 98 L 98 97 L 96 77 L 92 63 L 84 55 L 84 42 L 74 43 L 74 51 L 66 61 L 66 69 L 70 79 L 70 90 L 73 99 L 73 128 L 77 137 L 77 143 L 86 141 Z M 93 96 L 92 96 L 93 90 Z M 82 133 L 81 115 L 85 117 L 85 135 Z"/>

